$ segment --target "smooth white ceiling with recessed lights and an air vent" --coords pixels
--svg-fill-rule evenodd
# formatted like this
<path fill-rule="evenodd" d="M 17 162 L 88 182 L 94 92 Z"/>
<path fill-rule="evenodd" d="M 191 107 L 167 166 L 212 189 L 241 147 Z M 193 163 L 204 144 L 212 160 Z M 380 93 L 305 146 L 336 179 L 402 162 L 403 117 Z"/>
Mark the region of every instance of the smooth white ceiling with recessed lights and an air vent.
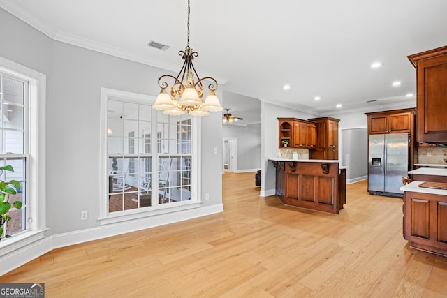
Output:
<path fill-rule="evenodd" d="M 55 40 L 175 72 L 182 65 L 186 0 L 0 0 L 0 6 Z M 445 0 L 191 0 L 190 45 L 199 75 L 215 77 L 230 94 L 321 115 L 416 105 L 406 97 L 416 94 L 406 57 L 447 44 L 446 12 Z M 149 40 L 170 48 L 147 47 Z M 374 61 L 382 66 L 372 69 Z M 397 80 L 402 84 L 393 87 Z"/>

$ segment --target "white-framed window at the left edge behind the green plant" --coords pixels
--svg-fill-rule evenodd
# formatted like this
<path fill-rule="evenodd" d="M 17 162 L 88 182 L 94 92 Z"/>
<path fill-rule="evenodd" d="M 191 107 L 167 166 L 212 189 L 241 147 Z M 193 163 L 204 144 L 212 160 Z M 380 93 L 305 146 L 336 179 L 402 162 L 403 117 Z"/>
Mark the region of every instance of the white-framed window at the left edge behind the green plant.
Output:
<path fill-rule="evenodd" d="M 14 251 L 25 237 L 45 229 L 45 75 L 0 57 L 0 166 L 12 165 L 14 172 L 0 172 L 0 179 L 20 181 L 11 201 L 22 201 L 22 209 L 11 208 L 7 229 L 12 237 L 0 247 Z M 10 245 L 12 244 L 12 245 Z M 4 252 L 6 252 L 4 251 Z M 3 251 L 2 251 L 3 252 Z"/>

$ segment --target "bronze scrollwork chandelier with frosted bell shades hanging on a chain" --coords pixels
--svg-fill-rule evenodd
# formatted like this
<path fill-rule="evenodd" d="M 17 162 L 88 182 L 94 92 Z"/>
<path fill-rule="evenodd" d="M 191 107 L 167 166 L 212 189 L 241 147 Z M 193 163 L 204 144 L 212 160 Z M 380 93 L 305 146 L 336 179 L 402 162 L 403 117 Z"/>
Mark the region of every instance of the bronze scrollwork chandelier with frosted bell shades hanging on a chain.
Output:
<path fill-rule="evenodd" d="M 210 112 L 217 112 L 223 110 L 223 107 L 219 103 L 214 91 L 217 89 L 217 81 L 212 77 L 203 77 L 200 79 L 196 72 L 196 68 L 193 66 L 194 57 L 198 56 L 197 52 L 194 52 L 189 47 L 189 14 L 191 9 L 189 8 L 188 0 L 188 44 L 184 51 L 179 51 L 179 55 L 182 56 L 184 64 L 177 77 L 173 75 L 162 75 L 159 77 L 159 87 L 161 88 L 159 96 L 157 96 L 152 108 L 156 110 L 163 110 L 163 114 L 170 115 L 182 115 L 186 111 L 193 116 L 207 116 Z M 170 87 L 169 94 L 166 89 L 168 83 L 164 81 L 165 78 L 171 78 L 174 80 L 173 86 Z M 196 77 L 196 79 L 194 78 Z M 202 101 L 203 97 L 203 84 L 205 80 L 211 81 L 208 85 L 210 90 L 205 103 Z"/>

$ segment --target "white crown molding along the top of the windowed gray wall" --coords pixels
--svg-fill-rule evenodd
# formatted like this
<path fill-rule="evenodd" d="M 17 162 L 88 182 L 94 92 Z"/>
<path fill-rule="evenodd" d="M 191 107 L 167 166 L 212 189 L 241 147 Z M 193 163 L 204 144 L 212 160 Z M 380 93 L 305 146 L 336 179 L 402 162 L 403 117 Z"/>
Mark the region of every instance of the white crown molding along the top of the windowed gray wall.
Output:
<path fill-rule="evenodd" d="M 122 50 L 118 47 L 113 47 L 112 45 L 98 43 L 94 40 L 89 40 L 87 38 L 82 38 L 80 36 L 75 36 L 73 34 L 62 31 L 56 31 L 52 29 L 50 25 L 46 24 L 38 17 L 32 15 L 29 10 L 21 6 L 15 0 L 0 0 L 0 7 L 8 11 L 8 13 L 19 18 L 23 22 L 29 24 L 31 27 L 34 27 L 38 31 L 41 31 L 46 36 L 52 38 L 52 40 L 56 40 L 61 43 L 68 43 L 77 47 L 83 47 L 87 50 L 101 52 L 103 54 L 108 54 L 110 56 L 138 62 L 140 64 L 154 66 L 163 70 L 170 70 L 173 73 L 178 73 L 179 71 L 179 65 L 177 64 L 168 64 L 158 59 L 152 59 L 140 54 L 135 54 L 134 52 Z M 214 77 L 214 79 L 217 80 L 218 84 L 225 84 L 226 82 L 228 82 L 228 79 L 226 78 L 216 77 L 207 73 L 202 73 L 202 77 Z"/>

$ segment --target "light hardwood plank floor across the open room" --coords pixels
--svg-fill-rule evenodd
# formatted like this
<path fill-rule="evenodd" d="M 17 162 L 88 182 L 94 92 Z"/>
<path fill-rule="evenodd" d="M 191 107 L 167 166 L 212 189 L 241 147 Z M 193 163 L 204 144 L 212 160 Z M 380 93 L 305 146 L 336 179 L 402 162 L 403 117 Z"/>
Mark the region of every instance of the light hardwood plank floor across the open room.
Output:
<path fill-rule="evenodd" d="M 409 248 L 402 199 L 347 186 L 339 215 L 223 174 L 221 214 L 59 248 L 1 277 L 46 297 L 447 297 L 447 258 Z"/>

